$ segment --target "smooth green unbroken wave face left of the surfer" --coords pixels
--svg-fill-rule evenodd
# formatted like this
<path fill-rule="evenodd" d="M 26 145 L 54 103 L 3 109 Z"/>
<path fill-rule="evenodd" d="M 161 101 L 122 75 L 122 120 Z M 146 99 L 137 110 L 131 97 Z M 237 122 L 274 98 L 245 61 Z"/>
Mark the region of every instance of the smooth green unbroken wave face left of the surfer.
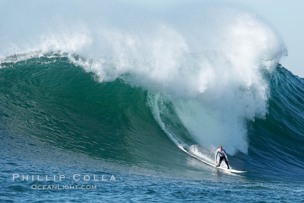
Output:
<path fill-rule="evenodd" d="M 182 161 L 151 114 L 147 90 L 121 79 L 100 83 L 62 57 L 2 65 L 0 128 L 12 136 L 148 168 Z"/>

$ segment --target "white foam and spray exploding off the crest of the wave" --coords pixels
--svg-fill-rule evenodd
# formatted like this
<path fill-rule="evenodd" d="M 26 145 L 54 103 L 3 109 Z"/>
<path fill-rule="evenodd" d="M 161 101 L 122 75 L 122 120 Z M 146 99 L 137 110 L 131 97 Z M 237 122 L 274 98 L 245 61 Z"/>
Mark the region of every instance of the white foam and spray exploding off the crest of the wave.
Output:
<path fill-rule="evenodd" d="M 121 12 L 124 6 L 119 3 L 117 10 Z M 285 46 L 267 25 L 243 11 L 219 5 L 183 6 L 166 8 L 171 16 L 135 7 L 130 8 L 132 15 L 115 11 L 84 18 L 80 13 L 76 23 L 71 18 L 76 14 L 50 18 L 49 23 L 62 25 L 47 32 L 41 28 L 35 40 L 13 41 L 11 36 L 1 43 L 6 49 L 0 53 L 0 62 L 46 53 L 68 57 L 96 73 L 101 82 L 121 77 L 151 94 L 161 94 L 172 102 L 199 144 L 210 149 L 223 145 L 229 154 L 247 153 L 246 122 L 267 113 L 268 84 L 261 69 L 272 71 L 286 54 Z M 97 8 L 102 10 L 102 3 Z M 65 9 L 63 13 L 71 13 L 71 8 Z M 34 29 L 34 22 L 25 27 Z M 16 57 L 6 57 L 9 54 Z M 166 131 L 159 116 L 162 108 L 157 102 L 151 108 Z M 185 145 L 173 131 L 167 134 L 178 146 Z"/>

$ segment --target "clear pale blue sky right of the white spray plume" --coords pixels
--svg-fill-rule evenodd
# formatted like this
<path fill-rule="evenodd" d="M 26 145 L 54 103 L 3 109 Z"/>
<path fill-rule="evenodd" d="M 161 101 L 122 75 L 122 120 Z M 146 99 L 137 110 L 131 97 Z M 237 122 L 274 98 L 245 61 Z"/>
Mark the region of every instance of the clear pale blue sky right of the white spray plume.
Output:
<path fill-rule="evenodd" d="M 304 1 L 303 0 L 227 0 L 226 3 L 256 13 L 265 20 L 288 49 L 282 66 L 293 74 L 304 77 Z"/>

